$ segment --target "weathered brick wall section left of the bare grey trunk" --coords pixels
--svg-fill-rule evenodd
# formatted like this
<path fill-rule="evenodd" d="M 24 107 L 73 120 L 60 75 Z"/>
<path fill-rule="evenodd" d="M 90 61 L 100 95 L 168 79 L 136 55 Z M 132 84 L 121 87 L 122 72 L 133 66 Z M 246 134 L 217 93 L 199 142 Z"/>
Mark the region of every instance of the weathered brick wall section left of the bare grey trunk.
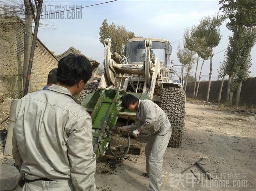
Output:
<path fill-rule="evenodd" d="M 17 97 L 22 92 L 23 26 L 13 19 L 0 24 L 0 93 Z"/>

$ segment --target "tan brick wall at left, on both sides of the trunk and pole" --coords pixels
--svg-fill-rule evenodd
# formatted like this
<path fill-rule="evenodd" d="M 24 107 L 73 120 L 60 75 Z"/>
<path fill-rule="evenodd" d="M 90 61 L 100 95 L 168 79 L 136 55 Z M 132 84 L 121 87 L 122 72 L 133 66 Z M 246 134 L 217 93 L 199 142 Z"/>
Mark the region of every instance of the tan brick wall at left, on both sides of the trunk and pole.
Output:
<path fill-rule="evenodd" d="M 15 17 L 0 20 L 0 93 L 19 98 L 23 84 L 24 23 Z M 37 39 L 31 92 L 42 89 L 47 84 L 48 73 L 57 66 L 57 58 Z"/>

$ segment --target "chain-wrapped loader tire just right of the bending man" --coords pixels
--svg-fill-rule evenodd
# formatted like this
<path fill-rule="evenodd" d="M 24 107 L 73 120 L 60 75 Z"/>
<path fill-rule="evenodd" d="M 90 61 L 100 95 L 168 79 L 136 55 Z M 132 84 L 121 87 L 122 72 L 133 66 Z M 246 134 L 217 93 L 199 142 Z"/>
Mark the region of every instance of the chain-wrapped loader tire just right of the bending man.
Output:
<path fill-rule="evenodd" d="M 159 106 L 167 114 L 172 126 L 172 137 L 168 146 L 178 148 L 185 132 L 186 94 L 184 90 L 163 88 Z"/>

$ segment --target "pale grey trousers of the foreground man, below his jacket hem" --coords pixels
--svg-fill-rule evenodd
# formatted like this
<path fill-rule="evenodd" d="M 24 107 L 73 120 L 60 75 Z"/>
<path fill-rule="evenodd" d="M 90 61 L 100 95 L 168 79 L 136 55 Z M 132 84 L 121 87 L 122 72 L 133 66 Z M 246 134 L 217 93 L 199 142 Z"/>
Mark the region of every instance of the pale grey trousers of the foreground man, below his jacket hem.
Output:
<path fill-rule="evenodd" d="M 37 180 L 34 182 L 26 182 L 22 191 L 75 191 L 75 188 L 71 181 L 69 182 L 57 182 L 57 181 L 44 181 Z"/>

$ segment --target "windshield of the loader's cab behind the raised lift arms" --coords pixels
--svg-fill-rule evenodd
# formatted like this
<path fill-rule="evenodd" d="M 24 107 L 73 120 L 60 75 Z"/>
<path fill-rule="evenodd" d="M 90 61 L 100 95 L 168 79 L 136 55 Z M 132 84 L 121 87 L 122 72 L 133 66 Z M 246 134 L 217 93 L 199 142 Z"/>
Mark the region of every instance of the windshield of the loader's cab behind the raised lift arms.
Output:
<path fill-rule="evenodd" d="M 152 41 L 151 54 L 160 59 L 160 64 L 165 64 L 166 43 Z M 145 60 L 145 41 L 129 42 L 126 49 L 128 63 L 144 62 Z"/>

